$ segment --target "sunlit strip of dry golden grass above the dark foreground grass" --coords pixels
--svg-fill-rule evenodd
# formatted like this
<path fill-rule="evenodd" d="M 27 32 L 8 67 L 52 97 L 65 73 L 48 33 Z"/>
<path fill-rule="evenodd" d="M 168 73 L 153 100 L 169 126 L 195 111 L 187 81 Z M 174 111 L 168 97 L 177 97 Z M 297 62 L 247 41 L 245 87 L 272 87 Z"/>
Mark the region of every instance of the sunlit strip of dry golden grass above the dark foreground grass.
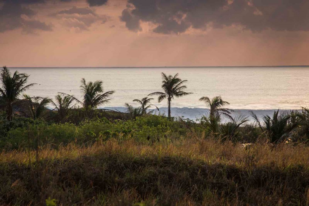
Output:
<path fill-rule="evenodd" d="M 36 151 L 8 151 L 0 152 L 0 163 L 15 162 L 28 164 L 29 154 L 31 161 L 36 161 Z M 289 146 L 279 144 L 273 146 L 267 143 L 256 143 L 246 149 L 243 144 L 232 142 L 221 143 L 214 139 L 196 141 L 187 139 L 177 143 L 145 145 L 133 140 L 117 142 L 97 142 L 92 146 L 61 146 L 58 150 L 50 150 L 48 147 L 39 150 L 39 159 L 74 159 L 81 156 L 120 154 L 124 156 L 173 156 L 202 160 L 207 163 L 223 163 L 237 165 L 237 167 L 250 166 L 276 166 L 286 168 L 293 165 L 301 165 L 309 168 L 309 147 L 297 145 Z M 254 164 L 254 165 L 252 165 Z"/>

